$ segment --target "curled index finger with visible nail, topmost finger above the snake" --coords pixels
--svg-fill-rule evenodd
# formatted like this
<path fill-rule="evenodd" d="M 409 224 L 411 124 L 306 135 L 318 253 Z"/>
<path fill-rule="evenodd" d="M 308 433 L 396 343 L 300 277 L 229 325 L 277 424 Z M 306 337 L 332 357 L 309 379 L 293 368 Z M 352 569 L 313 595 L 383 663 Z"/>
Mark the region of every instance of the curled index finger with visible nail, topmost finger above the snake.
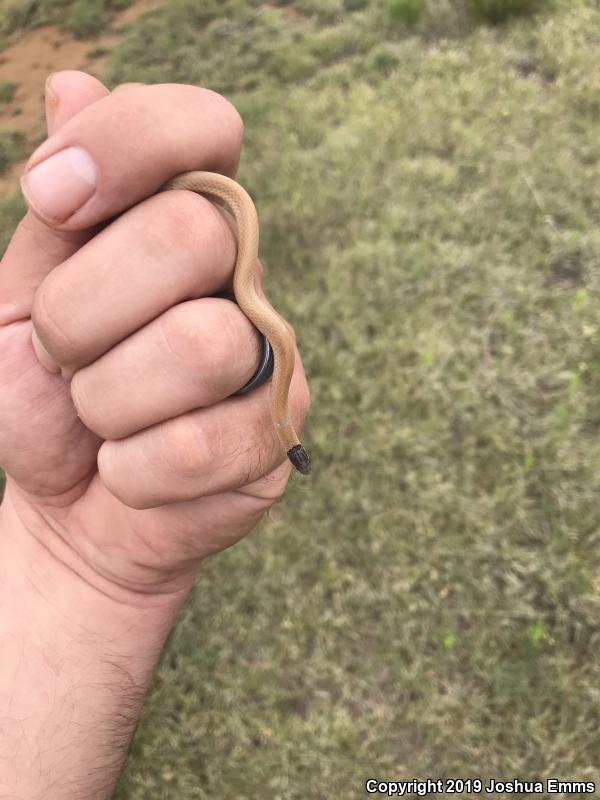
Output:
<path fill-rule="evenodd" d="M 123 88 L 81 111 L 31 156 L 21 186 L 48 225 L 80 230 L 193 169 L 233 177 L 243 124 L 215 92 L 184 84 Z"/>

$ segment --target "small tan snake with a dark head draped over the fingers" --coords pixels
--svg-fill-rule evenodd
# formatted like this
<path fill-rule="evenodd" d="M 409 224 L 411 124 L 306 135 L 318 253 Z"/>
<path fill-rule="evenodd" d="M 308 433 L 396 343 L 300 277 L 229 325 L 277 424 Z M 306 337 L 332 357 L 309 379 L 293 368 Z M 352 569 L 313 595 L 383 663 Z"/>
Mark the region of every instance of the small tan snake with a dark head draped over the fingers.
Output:
<path fill-rule="evenodd" d="M 233 292 L 238 306 L 264 334 L 273 349 L 275 365 L 271 383 L 271 415 L 287 457 L 303 475 L 310 472 L 310 458 L 289 417 L 289 390 L 294 372 L 294 337 L 285 320 L 256 292 L 254 279 L 258 261 L 258 215 L 252 198 L 239 183 L 215 172 L 184 172 L 161 187 L 188 189 L 226 203 L 237 224 L 237 259 Z"/>

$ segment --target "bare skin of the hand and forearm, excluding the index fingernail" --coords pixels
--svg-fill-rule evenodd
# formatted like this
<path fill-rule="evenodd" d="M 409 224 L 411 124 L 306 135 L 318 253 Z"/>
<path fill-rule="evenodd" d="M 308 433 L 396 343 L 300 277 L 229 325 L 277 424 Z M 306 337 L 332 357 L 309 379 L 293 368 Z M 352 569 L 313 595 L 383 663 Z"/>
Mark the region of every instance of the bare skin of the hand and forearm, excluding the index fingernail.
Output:
<path fill-rule="evenodd" d="M 199 195 L 156 194 L 188 170 L 234 177 L 235 109 L 68 71 L 46 113 L 0 265 L 0 798 L 105 798 L 199 566 L 281 498 L 291 465 L 269 385 L 230 397 L 259 360 L 244 314 L 211 297 L 231 290 L 235 225 Z M 70 146 L 97 186 L 48 216 L 27 173 Z"/>

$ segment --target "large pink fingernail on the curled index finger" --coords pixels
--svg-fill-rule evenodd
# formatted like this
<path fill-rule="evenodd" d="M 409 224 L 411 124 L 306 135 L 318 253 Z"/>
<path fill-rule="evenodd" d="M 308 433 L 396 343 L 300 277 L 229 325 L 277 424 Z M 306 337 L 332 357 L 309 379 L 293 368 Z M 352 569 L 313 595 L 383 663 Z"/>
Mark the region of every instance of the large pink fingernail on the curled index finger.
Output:
<path fill-rule="evenodd" d="M 83 147 L 67 147 L 21 178 L 25 199 L 41 217 L 64 222 L 94 194 L 98 171 Z"/>

